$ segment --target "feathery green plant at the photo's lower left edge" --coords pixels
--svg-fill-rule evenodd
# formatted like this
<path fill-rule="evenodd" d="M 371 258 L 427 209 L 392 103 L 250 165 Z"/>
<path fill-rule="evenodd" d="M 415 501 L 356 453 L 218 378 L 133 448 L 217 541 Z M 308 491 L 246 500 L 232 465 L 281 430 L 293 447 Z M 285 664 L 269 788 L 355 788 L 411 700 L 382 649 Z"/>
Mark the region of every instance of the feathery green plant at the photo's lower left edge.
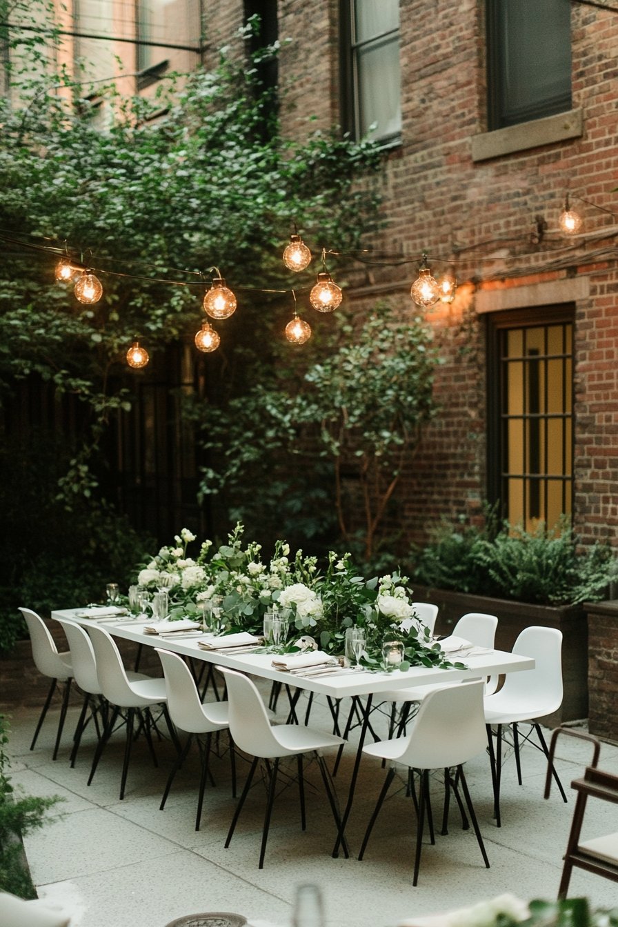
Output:
<path fill-rule="evenodd" d="M 62 799 L 57 795 L 38 798 L 16 792 L 9 776 L 7 743 L 8 722 L 0 715 L 0 891 L 21 898 L 35 898 L 36 890 L 23 855 L 21 837 L 42 827 L 46 812 Z"/>

